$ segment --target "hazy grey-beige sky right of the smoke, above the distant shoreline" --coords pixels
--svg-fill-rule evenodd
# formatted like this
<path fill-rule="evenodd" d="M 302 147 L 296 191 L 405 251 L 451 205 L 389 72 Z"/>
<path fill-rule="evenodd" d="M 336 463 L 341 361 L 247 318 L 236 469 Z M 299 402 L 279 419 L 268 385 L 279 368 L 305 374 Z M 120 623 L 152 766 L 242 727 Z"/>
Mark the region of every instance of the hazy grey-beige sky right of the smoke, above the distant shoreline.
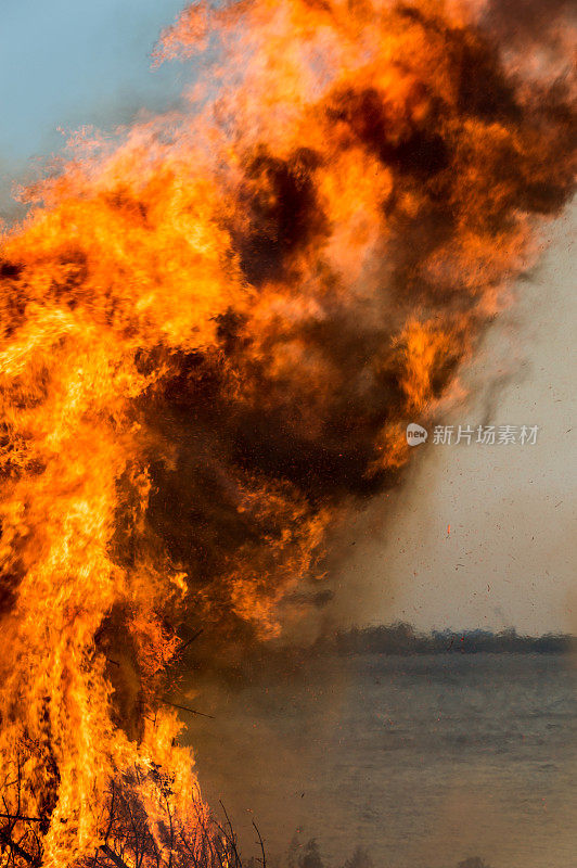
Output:
<path fill-rule="evenodd" d="M 473 397 L 443 420 L 539 425 L 537 444 L 439 446 L 429 434 L 405 488 L 350 529 L 339 611 L 362 598 L 367 621 L 576 630 L 575 225 L 574 212 L 551 227 L 540 266 L 465 376 Z"/>

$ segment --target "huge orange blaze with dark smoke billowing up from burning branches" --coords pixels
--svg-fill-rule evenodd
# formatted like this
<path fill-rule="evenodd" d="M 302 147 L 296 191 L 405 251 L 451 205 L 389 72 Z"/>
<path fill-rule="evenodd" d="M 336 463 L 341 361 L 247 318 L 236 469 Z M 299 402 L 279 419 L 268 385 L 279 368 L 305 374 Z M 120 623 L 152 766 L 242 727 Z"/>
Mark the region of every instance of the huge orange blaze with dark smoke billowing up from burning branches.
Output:
<path fill-rule="evenodd" d="M 566 40 L 530 63 L 484 21 L 194 4 L 155 55 L 204 59 L 190 111 L 28 190 L 0 247 L 2 866 L 232 859 L 163 702 L 178 625 L 279 633 L 573 190 Z"/>

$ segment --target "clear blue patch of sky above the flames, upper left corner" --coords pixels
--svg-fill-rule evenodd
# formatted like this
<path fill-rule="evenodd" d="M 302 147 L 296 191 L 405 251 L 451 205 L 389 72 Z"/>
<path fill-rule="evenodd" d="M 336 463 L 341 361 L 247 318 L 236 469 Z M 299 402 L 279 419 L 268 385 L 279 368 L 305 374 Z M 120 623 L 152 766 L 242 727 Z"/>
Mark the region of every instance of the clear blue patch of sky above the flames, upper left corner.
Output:
<path fill-rule="evenodd" d="M 110 128 L 178 99 L 183 69 L 150 52 L 184 0 L 2 0 L 0 196 L 66 130 Z"/>

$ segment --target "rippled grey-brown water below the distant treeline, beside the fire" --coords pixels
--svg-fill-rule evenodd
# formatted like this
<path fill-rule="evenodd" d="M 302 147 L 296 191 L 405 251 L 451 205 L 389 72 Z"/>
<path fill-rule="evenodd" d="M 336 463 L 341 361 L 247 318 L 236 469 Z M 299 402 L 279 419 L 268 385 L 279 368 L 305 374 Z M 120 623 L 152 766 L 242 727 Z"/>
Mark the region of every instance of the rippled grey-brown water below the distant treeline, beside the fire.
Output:
<path fill-rule="evenodd" d="M 315 838 L 335 868 L 357 845 L 375 868 L 575 868 L 575 686 L 556 655 L 316 660 L 207 691 L 216 719 L 188 738 L 205 796 L 248 853 L 256 820 L 272 865 Z"/>

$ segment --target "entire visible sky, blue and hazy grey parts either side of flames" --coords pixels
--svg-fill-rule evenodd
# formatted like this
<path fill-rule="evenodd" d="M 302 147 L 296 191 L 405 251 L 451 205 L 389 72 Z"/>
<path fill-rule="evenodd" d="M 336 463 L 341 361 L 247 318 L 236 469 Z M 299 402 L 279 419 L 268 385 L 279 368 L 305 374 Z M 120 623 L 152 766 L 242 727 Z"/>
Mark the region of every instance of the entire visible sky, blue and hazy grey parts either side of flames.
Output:
<path fill-rule="evenodd" d="M 3 0 L 0 213 L 11 213 L 12 180 L 62 145 L 59 127 L 112 127 L 178 98 L 180 67 L 153 73 L 149 55 L 181 5 Z M 521 284 L 518 306 L 495 328 L 470 373 L 472 381 L 507 384 L 489 408 L 485 393 L 444 420 L 537 424 L 537 445 L 419 447 L 403 490 L 347 531 L 359 545 L 339 567 L 339 612 L 424 627 L 577 628 L 570 227 L 567 216 L 551 228 L 551 246 Z"/>

